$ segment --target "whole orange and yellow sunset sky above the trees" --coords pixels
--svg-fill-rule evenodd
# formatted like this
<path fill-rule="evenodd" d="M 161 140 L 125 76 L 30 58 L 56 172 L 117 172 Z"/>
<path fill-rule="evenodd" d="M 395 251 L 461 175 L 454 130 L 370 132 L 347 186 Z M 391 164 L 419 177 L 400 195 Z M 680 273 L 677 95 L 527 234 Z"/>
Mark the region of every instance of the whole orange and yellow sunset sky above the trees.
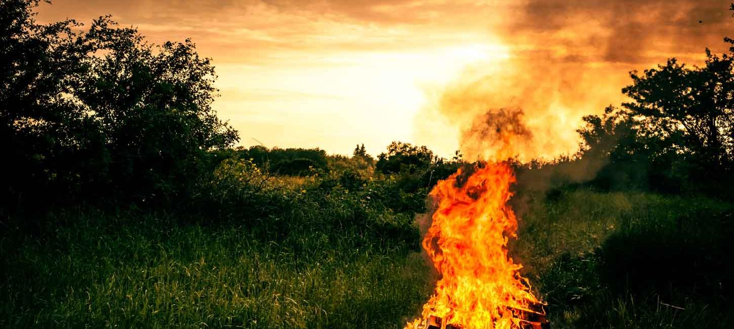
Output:
<path fill-rule="evenodd" d="M 517 106 L 528 156 L 573 152 L 581 116 L 628 71 L 702 61 L 734 37 L 728 1 L 55 0 L 38 21 L 112 14 L 155 43 L 191 37 L 217 68 L 214 109 L 241 145 L 449 156 L 490 108 Z M 473 155 L 473 153 L 472 153 Z"/>

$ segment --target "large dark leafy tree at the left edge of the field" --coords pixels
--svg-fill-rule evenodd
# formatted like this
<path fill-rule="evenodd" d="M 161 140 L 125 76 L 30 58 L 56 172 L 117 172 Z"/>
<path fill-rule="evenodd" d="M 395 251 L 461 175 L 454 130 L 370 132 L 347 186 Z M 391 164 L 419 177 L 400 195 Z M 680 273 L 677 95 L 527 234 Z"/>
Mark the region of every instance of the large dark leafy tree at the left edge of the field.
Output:
<path fill-rule="evenodd" d="M 191 40 L 154 46 L 109 16 L 86 32 L 37 24 L 37 4 L 0 0 L 6 194 L 176 198 L 207 151 L 238 140 L 211 109 L 214 67 Z"/>

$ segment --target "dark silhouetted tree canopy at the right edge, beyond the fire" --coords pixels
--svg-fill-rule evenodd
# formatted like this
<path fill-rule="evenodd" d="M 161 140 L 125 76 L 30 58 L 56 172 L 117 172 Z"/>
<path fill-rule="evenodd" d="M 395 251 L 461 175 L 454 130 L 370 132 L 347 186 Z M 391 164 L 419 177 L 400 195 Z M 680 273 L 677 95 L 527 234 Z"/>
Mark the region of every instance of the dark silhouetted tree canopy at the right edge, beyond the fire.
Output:
<path fill-rule="evenodd" d="M 584 117 L 584 157 L 608 156 L 600 178 L 666 192 L 711 189 L 734 172 L 734 63 L 706 51 L 702 67 L 669 59 L 633 71 L 631 101 Z M 620 178 L 624 177 L 624 178 Z M 628 184 L 628 185 L 629 185 Z"/>

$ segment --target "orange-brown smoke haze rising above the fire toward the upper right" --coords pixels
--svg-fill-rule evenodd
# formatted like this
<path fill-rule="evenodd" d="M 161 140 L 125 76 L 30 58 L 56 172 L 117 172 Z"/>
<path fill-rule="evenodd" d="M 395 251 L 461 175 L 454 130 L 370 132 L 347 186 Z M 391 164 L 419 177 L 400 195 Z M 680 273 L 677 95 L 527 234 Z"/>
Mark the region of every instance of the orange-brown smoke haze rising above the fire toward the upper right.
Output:
<path fill-rule="evenodd" d="M 623 101 L 620 90 L 630 82 L 628 71 L 653 67 L 668 57 L 700 63 L 707 46 L 724 51 L 722 38 L 732 19 L 728 5 L 527 1 L 498 28 L 504 44 L 510 45 L 509 59 L 465 69 L 424 106 L 418 124 L 426 136 L 437 129 L 432 126 L 436 120 L 454 126 L 459 142 L 454 148 L 469 160 L 573 154 L 578 151 L 575 129 L 583 124 L 581 117 Z M 512 154 L 498 154 L 487 140 L 492 136 L 484 131 L 497 126 L 491 117 L 509 107 L 524 112 L 515 125 L 526 126 L 530 134 L 514 138 Z M 484 129 L 478 129 L 482 124 Z"/>

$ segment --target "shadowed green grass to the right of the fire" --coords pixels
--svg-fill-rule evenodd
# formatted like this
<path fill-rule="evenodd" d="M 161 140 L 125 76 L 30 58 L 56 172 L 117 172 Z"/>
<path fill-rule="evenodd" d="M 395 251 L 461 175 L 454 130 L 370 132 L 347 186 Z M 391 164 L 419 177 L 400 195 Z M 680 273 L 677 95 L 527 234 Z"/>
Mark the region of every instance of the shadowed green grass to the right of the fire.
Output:
<path fill-rule="evenodd" d="M 550 195 L 524 199 L 515 255 L 548 300 L 553 328 L 734 328 L 730 203 Z"/>

